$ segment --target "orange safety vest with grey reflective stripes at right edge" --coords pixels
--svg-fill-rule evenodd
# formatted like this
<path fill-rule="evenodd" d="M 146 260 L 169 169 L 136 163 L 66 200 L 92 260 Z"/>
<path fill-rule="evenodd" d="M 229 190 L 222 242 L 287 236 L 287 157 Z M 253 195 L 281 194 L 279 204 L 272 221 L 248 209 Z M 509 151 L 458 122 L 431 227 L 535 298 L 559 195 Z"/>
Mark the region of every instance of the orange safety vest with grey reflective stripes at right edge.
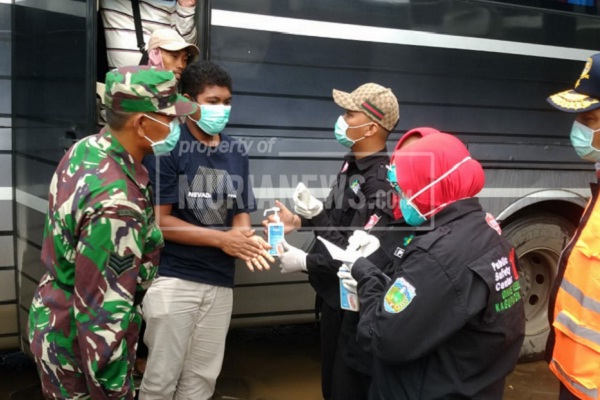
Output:
<path fill-rule="evenodd" d="M 598 187 L 563 251 L 566 266 L 554 305 L 550 369 L 576 396 L 600 399 L 600 201 Z"/>

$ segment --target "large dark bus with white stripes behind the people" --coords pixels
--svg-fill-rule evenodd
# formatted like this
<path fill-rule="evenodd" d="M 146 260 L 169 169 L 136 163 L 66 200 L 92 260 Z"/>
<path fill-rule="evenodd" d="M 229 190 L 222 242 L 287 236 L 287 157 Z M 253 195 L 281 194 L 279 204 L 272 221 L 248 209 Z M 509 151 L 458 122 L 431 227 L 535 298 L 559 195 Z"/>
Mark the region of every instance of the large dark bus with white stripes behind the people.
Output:
<path fill-rule="evenodd" d="M 0 219 L 0 245 L 11 255 L 0 269 L 7 278 L 0 345 L 26 350 L 28 310 L 44 272 L 48 184 L 65 149 L 97 130 L 95 82 L 106 73 L 106 49 L 94 1 L 0 0 L 0 7 L 0 32 L 11 38 L 0 47 L 11 60 L 0 62 L 0 90 L 10 93 L 8 107 L 0 100 L 0 133 L 10 136 L 0 148 L 10 182 L 0 193 L 3 213 L 10 210 Z M 291 206 L 300 181 L 323 198 L 341 168 L 333 126 L 342 110 L 332 89 L 389 87 L 400 121 L 388 150 L 409 129 L 431 126 L 459 137 L 483 164 L 479 198 L 519 257 L 521 356 L 543 354 L 557 261 L 595 180 L 569 143 L 572 116 L 545 99 L 571 88 L 598 51 L 594 2 L 198 0 L 195 18 L 201 57 L 233 77 L 225 132 L 247 143 L 258 232 L 275 199 Z M 312 240 L 306 232 L 288 237 L 304 249 Z M 305 275 L 282 275 L 276 265 L 251 273 L 239 263 L 233 327 L 316 318 Z"/>

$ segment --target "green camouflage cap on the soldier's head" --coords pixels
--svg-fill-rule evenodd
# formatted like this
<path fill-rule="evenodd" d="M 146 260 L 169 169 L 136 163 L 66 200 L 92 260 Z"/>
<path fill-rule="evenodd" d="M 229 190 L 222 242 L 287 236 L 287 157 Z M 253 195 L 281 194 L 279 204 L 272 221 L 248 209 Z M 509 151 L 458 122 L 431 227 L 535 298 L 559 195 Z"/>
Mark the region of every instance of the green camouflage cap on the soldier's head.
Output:
<path fill-rule="evenodd" d="M 147 65 L 121 67 L 106 74 L 104 104 L 115 111 L 155 112 L 189 115 L 195 103 L 177 94 L 177 80 L 171 71 Z"/>

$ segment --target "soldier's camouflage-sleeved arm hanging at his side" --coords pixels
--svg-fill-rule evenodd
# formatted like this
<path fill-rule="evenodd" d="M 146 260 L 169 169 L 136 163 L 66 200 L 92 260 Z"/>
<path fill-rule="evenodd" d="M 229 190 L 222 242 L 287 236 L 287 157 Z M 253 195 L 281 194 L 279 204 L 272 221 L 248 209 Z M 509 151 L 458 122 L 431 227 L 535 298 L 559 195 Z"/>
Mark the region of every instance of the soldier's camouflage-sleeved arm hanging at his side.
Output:
<path fill-rule="evenodd" d="M 74 320 L 93 397 L 122 399 L 141 317 L 134 296 L 148 225 L 135 204 L 111 199 L 83 218 L 75 254 Z M 101 394 L 101 395 L 100 395 Z"/>

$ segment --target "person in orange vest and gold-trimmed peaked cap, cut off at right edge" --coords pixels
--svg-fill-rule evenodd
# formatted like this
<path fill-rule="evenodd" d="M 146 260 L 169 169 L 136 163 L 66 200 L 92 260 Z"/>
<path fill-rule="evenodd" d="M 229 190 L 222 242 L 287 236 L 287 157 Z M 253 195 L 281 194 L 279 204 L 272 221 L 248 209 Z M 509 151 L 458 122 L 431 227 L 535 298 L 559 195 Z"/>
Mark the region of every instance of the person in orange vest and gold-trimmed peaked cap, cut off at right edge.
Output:
<path fill-rule="evenodd" d="M 587 59 L 572 89 L 553 94 L 548 102 L 573 114 L 571 144 L 584 161 L 594 163 L 596 183 L 577 232 L 562 251 L 550 292 L 550 334 L 546 359 L 560 381 L 559 400 L 598 399 L 600 396 L 600 54 Z"/>

